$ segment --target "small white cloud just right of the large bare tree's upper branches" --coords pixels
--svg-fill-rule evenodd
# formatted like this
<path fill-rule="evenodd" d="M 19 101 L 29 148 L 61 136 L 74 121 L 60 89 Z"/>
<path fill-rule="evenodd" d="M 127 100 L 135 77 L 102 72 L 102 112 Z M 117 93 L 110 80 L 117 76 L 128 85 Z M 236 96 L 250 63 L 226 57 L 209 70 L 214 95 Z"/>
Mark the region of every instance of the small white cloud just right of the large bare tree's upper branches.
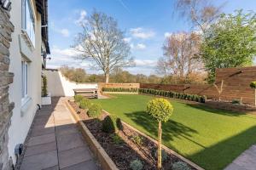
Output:
<path fill-rule="evenodd" d="M 155 32 L 152 30 L 147 30 L 142 27 L 131 28 L 130 30 L 132 37 L 148 39 L 150 37 L 154 37 Z"/>

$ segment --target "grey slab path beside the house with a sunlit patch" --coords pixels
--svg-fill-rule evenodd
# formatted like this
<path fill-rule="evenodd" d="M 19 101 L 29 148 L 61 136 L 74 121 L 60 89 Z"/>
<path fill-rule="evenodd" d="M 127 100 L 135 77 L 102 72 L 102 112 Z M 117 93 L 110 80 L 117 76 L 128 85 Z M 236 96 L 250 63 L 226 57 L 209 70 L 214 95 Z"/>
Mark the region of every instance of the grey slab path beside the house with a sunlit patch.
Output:
<path fill-rule="evenodd" d="M 64 98 L 53 98 L 52 103 L 34 119 L 20 170 L 99 169 Z"/>

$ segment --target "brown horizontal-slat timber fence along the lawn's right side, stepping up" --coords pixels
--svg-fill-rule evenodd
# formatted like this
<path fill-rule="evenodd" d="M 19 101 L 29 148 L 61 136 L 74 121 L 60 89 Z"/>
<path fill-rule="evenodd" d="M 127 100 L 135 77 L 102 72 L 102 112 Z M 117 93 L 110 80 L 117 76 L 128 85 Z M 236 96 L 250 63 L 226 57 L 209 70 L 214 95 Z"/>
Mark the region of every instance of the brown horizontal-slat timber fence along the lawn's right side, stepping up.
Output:
<path fill-rule="evenodd" d="M 253 81 L 256 81 L 256 66 L 217 69 L 215 85 L 141 83 L 140 88 L 153 88 L 184 94 L 206 95 L 208 99 L 221 99 L 225 101 L 238 99 L 241 100 L 242 103 L 254 105 L 254 89 L 249 86 L 250 82 Z M 218 91 L 221 89 L 221 84 L 223 84 L 222 93 L 219 94 Z"/>

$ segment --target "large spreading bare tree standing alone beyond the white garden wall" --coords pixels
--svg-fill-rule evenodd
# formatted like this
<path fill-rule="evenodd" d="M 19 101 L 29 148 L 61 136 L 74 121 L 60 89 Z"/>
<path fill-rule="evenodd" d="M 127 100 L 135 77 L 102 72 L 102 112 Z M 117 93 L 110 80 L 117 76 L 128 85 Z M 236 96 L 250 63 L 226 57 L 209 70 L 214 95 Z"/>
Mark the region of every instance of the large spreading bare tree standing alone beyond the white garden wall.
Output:
<path fill-rule="evenodd" d="M 133 65 L 124 32 L 112 17 L 94 11 L 82 27 L 73 48 L 79 51 L 80 59 L 94 61 L 96 68 L 104 72 L 105 82 L 108 83 L 109 73 L 114 68 Z"/>

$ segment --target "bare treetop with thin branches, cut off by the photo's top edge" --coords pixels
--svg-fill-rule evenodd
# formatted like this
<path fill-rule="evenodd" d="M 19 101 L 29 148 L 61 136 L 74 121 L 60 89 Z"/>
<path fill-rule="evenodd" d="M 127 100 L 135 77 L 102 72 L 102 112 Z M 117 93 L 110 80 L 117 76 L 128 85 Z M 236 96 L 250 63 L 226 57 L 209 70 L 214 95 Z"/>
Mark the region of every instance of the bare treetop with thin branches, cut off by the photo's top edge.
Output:
<path fill-rule="evenodd" d="M 205 36 L 207 27 L 221 14 L 221 6 L 215 6 L 212 0 L 176 0 L 177 12 L 188 19 L 195 29 Z"/>

